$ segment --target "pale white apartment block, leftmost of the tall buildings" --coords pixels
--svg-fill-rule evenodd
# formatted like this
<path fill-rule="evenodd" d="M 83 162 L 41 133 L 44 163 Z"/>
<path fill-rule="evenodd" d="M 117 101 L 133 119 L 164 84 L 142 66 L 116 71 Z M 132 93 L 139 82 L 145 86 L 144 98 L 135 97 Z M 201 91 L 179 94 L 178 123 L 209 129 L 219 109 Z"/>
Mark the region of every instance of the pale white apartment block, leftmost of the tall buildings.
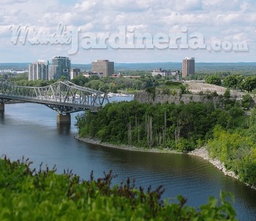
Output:
<path fill-rule="evenodd" d="M 48 80 L 48 61 L 38 60 L 30 63 L 29 80 Z"/>

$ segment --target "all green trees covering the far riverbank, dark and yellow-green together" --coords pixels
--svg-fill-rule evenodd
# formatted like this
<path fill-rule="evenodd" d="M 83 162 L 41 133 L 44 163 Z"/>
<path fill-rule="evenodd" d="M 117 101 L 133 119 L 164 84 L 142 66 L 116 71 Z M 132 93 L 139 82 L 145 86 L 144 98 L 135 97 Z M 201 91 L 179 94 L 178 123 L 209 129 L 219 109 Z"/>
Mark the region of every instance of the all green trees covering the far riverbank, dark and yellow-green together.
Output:
<path fill-rule="evenodd" d="M 256 185 L 255 112 L 249 117 L 231 100 L 226 109 L 213 103 L 153 105 L 124 101 L 107 104 L 97 114 L 79 116 L 77 125 L 81 137 L 111 144 L 179 152 L 206 145 L 211 155 L 239 179 Z"/>

